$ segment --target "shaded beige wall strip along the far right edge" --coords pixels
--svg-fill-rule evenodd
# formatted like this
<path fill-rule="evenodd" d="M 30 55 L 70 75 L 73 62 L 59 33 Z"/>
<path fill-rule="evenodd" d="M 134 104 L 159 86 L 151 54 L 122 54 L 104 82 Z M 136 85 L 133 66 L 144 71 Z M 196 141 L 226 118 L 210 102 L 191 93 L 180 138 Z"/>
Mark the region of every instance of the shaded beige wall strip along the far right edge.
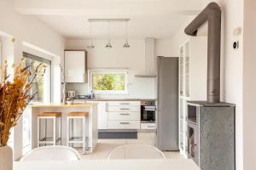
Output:
<path fill-rule="evenodd" d="M 256 111 L 256 1 L 244 1 L 243 35 L 243 167 L 256 169 L 256 133 L 254 131 Z"/>

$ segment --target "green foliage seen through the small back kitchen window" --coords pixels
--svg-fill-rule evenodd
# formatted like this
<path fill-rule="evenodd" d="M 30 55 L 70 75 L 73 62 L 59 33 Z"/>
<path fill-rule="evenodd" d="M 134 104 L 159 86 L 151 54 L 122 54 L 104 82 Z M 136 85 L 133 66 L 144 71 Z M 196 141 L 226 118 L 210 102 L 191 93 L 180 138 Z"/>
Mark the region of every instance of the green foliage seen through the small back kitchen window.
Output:
<path fill-rule="evenodd" d="M 93 74 L 94 90 L 125 90 L 125 74 Z"/>

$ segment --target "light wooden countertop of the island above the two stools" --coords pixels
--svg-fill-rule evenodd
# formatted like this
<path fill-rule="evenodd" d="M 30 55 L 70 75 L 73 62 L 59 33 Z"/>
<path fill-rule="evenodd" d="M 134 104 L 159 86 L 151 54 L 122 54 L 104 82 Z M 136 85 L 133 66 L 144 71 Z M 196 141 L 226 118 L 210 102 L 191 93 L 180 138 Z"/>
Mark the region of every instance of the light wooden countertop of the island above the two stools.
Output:
<path fill-rule="evenodd" d="M 84 103 L 84 104 L 73 104 L 73 105 L 63 105 L 63 104 L 42 104 L 42 105 L 29 105 L 32 108 L 36 107 L 92 107 L 98 105 L 97 102 L 90 102 L 90 103 Z"/>

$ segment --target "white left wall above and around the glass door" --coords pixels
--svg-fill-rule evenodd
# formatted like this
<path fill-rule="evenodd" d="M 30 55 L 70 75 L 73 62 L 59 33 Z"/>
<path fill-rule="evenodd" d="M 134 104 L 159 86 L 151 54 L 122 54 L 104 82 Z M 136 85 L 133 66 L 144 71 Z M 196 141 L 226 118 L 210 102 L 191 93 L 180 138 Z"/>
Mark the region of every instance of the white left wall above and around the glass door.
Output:
<path fill-rule="evenodd" d="M 50 52 L 50 54 L 55 54 L 55 56 L 58 56 L 59 59 L 57 60 L 59 61 L 63 56 L 63 49 L 65 46 L 64 37 L 50 29 L 48 26 L 45 26 L 34 17 L 17 14 L 14 9 L 13 1 L 0 1 L 0 31 L 0 37 L 7 38 L 5 41 L 9 41 L 9 44 L 11 44 L 8 46 L 9 48 L 6 48 L 8 49 L 6 54 L 10 55 L 3 56 L 4 59 L 9 60 L 10 64 L 19 62 L 20 57 L 22 56 L 24 42 L 33 44 L 34 47 L 42 48 L 45 51 Z M 15 37 L 15 42 L 11 42 L 12 37 Z M 60 88 L 60 83 L 57 88 Z M 21 132 L 22 121 L 20 119 L 19 126 L 15 127 L 15 159 L 22 155 Z"/>

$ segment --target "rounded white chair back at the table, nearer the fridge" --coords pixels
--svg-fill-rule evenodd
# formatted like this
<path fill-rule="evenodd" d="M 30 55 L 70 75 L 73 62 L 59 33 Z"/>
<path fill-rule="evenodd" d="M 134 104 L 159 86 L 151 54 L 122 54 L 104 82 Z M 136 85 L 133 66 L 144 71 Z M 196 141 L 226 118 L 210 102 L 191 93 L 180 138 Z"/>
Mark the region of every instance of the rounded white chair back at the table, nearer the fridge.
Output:
<path fill-rule="evenodd" d="M 111 159 L 166 159 L 166 156 L 153 145 L 125 144 L 110 151 L 108 160 Z"/>

